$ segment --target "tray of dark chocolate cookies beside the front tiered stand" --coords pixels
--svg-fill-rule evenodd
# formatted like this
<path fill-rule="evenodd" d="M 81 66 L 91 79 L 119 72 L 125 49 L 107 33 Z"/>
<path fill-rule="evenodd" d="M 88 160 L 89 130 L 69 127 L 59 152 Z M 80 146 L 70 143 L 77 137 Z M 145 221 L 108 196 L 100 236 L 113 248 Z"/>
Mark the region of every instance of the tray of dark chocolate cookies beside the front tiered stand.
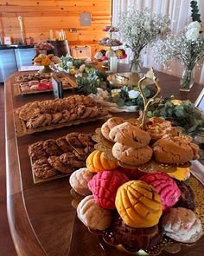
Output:
<path fill-rule="evenodd" d="M 29 145 L 34 183 L 59 179 L 84 167 L 94 144 L 91 134 L 70 133 Z"/>

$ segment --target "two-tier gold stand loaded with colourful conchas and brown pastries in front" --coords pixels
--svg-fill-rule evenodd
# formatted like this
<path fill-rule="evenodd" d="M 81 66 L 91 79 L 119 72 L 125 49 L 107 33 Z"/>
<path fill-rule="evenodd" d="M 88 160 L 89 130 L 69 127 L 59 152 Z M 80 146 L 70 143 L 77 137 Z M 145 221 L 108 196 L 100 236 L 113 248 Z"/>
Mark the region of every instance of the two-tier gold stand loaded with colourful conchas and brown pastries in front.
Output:
<path fill-rule="evenodd" d="M 204 190 L 190 177 L 189 161 L 199 157 L 190 137 L 157 117 L 145 129 L 112 117 L 92 139 L 97 149 L 69 180 L 88 230 L 136 255 L 195 246 L 204 228 Z"/>

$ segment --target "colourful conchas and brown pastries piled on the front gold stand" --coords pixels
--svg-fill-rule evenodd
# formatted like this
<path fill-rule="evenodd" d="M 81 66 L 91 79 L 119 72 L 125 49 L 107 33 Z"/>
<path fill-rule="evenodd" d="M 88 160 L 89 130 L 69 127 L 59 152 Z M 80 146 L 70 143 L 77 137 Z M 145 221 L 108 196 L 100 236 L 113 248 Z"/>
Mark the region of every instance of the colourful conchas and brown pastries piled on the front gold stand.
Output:
<path fill-rule="evenodd" d="M 191 148 L 193 154 L 183 159 L 190 161 L 197 157 L 194 143 L 175 128 L 171 134 L 169 122 L 157 120 L 159 126 L 163 123 L 163 129 L 168 129 L 168 136 L 165 132 L 164 136 L 158 133 L 157 127 L 153 129 L 152 123 L 156 120 L 150 120 L 147 130 L 143 131 L 121 118 L 109 119 L 101 133 L 114 143 L 115 161 L 105 159 L 103 152 L 95 150 L 86 159 L 86 167 L 70 176 L 71 187 L 84 196 L 77 207 L 78 218 L 88 228 L 102 231 L 112 244 L 121 244 L 133 252 L 150 250 L 162 242 L 164 235 L 182 243 L 194 243 L 202 235 L 201 220 L 193 212 L 194 193 L 185 183 L 189 168 L 176 168 L 170 173 L 163 173 L 161 169 L 146 174 L 137 167 L 128 169 L 118 164 L 123 161 L 140 165 L 156 158 L 160 141 L 171 141 L 175 148 L 186 143 L 185 149 Z M 177 143 L 178 140 L 182 142 Z M 171 147 L 163 146 L 161 150 L 169 154 L 169 158 L 163 161 L 159 155 L 159 161 L 182 162 L 182 157 L 173 157 Z"/>

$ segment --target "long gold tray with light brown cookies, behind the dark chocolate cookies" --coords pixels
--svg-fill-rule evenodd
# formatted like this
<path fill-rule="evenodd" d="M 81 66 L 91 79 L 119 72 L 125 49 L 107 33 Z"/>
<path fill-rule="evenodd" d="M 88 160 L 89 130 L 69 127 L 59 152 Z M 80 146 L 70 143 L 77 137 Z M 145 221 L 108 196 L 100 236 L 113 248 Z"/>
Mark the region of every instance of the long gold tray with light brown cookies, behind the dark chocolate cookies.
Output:
<path fill-rule="evenodd" d="M 17 136 L 96 121 L 107 116 L 107 110 L 85 95 L 29 102 L 14 110 Z"/>

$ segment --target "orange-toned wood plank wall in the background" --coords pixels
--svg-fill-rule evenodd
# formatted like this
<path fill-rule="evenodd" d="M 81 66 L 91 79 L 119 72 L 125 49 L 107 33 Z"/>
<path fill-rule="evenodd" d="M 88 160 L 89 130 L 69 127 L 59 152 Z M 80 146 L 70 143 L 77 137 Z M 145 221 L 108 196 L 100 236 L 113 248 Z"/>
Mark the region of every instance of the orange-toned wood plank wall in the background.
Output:
<path fill-rule="evenodd" d="M 35 42 L 48 39 L 49 31 L 65 30 L 70 46 L 90 45 L 92 55 L 101 46 L 102 29 L 111 23 L 112 0 L 0 0 L 0 32 L 3 36 L 20 39 L 18 16 L 22 16 L 26 38 Z M 92 14 L 91 26 L 80 26 L 80 14 Z M 77 32 L 70 32 L 76 28 Z M 42 34 L 42 35 L 41 35 Z"/>

